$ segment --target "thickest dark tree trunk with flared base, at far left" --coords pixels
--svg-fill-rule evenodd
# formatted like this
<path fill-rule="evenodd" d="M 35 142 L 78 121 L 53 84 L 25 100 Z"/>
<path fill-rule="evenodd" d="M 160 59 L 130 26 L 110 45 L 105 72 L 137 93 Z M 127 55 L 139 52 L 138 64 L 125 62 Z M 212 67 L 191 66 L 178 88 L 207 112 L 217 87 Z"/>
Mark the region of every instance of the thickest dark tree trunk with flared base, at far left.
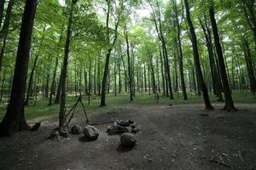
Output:
<path fill-rule="evenodd" d="M 7 111 L 0 124 L 0 136 L 9 136 L 28 127 L 24 114 L 24 100 L 32 28 L 37 4 L 37 0 L 26 0 L 20 27 L 20 40 L 15 62 L 11 96 Z"/>

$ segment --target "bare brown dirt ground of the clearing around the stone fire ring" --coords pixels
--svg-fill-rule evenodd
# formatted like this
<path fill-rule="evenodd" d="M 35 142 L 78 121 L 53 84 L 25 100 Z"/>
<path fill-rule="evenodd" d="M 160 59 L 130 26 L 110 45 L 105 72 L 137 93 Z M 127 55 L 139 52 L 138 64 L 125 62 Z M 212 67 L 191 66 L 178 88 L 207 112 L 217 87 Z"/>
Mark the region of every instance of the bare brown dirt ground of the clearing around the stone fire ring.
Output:
<path fill-rule="evenodd" d="M 104 170 L 256 169 L 256 105 L 237 105 L 240 111 L 204 111 L 203 105 L 120 105 L 120 113 L 90 115 L 91 123 L 130 119 L 141 125 L 137 145 L 125 150 L 119 136 L 96 126 L 100 137 L 86 142 L 83 134 L 67 140 L 47 140 L 56 119 L 37 132 L 0 139 L 0 169 Z M 84 117 L 75 123 L 83 125 Z"/>

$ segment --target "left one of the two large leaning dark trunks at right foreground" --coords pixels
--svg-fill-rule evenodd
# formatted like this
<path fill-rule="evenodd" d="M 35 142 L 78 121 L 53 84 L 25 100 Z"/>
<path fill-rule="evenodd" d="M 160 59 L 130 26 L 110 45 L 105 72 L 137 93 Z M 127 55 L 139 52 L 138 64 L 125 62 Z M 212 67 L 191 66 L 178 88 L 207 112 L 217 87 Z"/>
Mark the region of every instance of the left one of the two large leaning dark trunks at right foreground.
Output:
<path fill-rule="evenodd" d="M 189 11 L 188 0 L 184 0 L 184 3 L 185 3 L 187 20 L 188 20 L 188 23 L 189 23 L 189 30 L 190 30 L 191 39 L 192 39 L 193 54 L 194 54 L 194 60 L 195 60 L 196 77 L 197 77 L 197 80 L 198 80 L 198 84 L 199 84 L 199 86 L 201 88 L 201 91 L 203 93 L 206 109 L 207 110 L 212 110 L 213 107 L 212 107 L 210 99 L 209 99 L 209 94 L 208 94 L 207 86 L 206 86 L 206 83 L 204 81 L 204 78 L 203 78 L 203 75 L 202 75 L 202 72 L 201 72 L 201 64 L 200 64 L 200 59 L 199 59 L 198 47 L 197 47 L 197 39 L 196 39 L 196 35 L 195 35 L 195 28 L 194 28 L 192 20 L 190 18 L 190 11 Z"/>

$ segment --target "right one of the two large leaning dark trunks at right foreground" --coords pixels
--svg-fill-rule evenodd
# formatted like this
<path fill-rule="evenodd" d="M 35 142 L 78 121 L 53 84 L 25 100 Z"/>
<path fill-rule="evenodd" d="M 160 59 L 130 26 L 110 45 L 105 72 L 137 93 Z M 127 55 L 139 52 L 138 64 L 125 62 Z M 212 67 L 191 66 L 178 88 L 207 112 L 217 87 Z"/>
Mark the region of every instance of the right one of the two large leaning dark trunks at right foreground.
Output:
<path fill-rule="evenodd" d="M 219 37 L 218 37 L 218 27 L 216 24 L 215 20 L 215 14 L 214 14 L 214 8 L 211 7 L 209 9 L 209 14 L 210 14 L 210 19 L 212 23 L 212 32 L 214 36 L 214 42 L 215 42 L 215 48 L 218 54 L 218 65 L 220 69 L 220 75 L 222 78 L 222 83 L 223 83 L 223 89 L 224 89 L 224 97 L 225 97 L 225 105 L 224 105 L 224 110 L 226 111 L 236 111 L 231 92 L 230 92 L 230 83 L 228 80 L 228 76 L 226 73 L 225 69 L 225 64 L 224 64 L 224 56 L 222 52 L 222 48 L 219 42 Z"/>

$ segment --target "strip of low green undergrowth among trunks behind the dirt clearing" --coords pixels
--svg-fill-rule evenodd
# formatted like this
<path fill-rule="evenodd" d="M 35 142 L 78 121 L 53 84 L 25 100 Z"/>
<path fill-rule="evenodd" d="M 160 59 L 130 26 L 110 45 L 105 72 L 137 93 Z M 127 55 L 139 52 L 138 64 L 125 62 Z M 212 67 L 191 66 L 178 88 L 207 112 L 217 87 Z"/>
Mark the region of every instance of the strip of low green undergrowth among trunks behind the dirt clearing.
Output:
<path fill-rule="evenodd" d="M 195 94 L 188 94 L 188 100 L 183 100 L 182 94 L 174 94 L 174 99 L 169 99 L 166 97 L 163 97 L 162 94 L 160 94 L 160 104 L 164 105 L 185 105 L 185 104 L 198 104 L 203 103 L 202 96 L 198 96 Z M 213 95 L 210 95 L 212 103 L 217 103 L 217 98 Z M 70 108 L 74 105 L 74 103 L 77 101 L 78 98 L 76 98 L 74 95 L 68 95 L 67 96 L 67 111 L 70 110 Z M 256 103 L 256 96 L 245 93 L 233 93 L 233 99 L 235 103 Z M 0 120 L 2 120 L 3 115 L 6 111 L 6 104 L 2 103 L 0 105 Z M 85 106 L 86 111 L 89 114 L 95 114 L 95 113 L 107 113 L 111 111 L 120 111 L 122 105 L 125 104 L 136 104 L 136 105 L 152 105 L 156 104 L 156 100 L 154 99 L 154 94 L 148 95 L 148 93 L 137 93 L 134 97 L 134 100 L 130 102 L 129 94 L 117 94 L 117 96 L 114 96 L 113 94 L 108 94 L 106 98 L 106 107 L 100 107 L 100 96 L 92 95 L 90 96 L 90 105 L 88 105 L 88 97 L 83 97 L 83 103 Z M 76 112 L 81 114 L 83 111 L 83 108 L 81 105 L 78 105 Z M 32 120 L 33 118 L 38 117 L 55 117 L 58 116 L 59 113 L 59 105 L 48 105 L 48 99 L 38 99 L 38 102 L 34 106 L 34 103 L 32 102 L 29 106 L 26 106 L 26 119 Z"/>

